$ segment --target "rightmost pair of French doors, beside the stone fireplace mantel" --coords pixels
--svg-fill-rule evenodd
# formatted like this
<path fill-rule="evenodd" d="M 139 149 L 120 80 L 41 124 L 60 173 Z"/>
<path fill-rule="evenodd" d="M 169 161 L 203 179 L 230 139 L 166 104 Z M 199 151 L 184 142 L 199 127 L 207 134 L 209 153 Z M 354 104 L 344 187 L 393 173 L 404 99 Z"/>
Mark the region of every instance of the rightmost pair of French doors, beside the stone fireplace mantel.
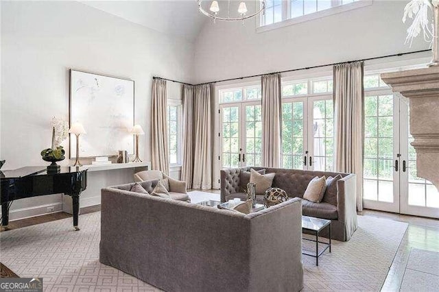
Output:
<path fill-rule="evenodd" d="M 408 104 L 391 93 L 365 97 L 364 208 L 439 217 L 439 193 L 416 177 Z"/>

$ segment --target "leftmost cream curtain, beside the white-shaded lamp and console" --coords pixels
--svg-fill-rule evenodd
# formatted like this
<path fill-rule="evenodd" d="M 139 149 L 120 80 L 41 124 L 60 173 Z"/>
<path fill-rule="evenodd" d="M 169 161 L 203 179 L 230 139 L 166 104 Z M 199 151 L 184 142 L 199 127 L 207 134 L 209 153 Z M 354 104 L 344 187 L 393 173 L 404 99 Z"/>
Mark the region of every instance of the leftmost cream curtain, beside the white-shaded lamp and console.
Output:
<path fill-rule="evenodd" d="M 166 81 L 158 79 L 152 80 L 152 169 L 157 169 L 169 175 L 166 98 Z"/>

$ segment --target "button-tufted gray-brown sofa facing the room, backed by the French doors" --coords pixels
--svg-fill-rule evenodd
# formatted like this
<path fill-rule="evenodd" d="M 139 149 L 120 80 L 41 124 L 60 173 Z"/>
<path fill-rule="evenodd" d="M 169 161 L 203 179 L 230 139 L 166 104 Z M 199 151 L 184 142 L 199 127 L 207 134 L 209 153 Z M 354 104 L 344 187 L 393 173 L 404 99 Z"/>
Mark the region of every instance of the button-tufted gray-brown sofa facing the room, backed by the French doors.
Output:
<path fill-rule="evenodd" d="M 302 214 L 305 216 L 330 219 L 332 227 L 332 239 L 348 241 L 357 230 L 357 201 L 356 201 L 356 177 L 354 174 L 334 173 L 327 171 L 303 171 L 298 169 L 274 169 L 269 167 L 251 167 L 258 171 L 265 169 L 266 173 L 276 173 L 273 187 L 282 188 L 288 197 L 303 197 L 309 182 L 316 176 L 326 177 L 340 174 L 342 179 L 337 181 L 336 197 L 324 198 L 321 203 L 302 200 Z M 246 199 L 247 194 L 242 190 L 239 173 L 241 170 L 250 171 L 250 167 L 237 169 L 224 169 L 221 171 L 221 200 L 239 197 Z M 263 195 L 257 195 L 257 202 L 263 202 Z M 322 236 L 329 237 L 329 232 L 324 230 Z"/>

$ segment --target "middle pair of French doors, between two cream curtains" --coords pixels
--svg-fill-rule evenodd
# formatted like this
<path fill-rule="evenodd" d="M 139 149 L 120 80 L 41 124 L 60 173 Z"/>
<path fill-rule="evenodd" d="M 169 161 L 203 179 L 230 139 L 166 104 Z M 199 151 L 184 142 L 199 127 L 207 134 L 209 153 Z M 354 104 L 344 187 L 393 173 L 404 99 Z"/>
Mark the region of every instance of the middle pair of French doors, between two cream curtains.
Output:
<path fill-rule="evenodd" d="M 294 97 L 283 101 L 281 154 L 283 168 L 332 170 L 331 96 Z"/>

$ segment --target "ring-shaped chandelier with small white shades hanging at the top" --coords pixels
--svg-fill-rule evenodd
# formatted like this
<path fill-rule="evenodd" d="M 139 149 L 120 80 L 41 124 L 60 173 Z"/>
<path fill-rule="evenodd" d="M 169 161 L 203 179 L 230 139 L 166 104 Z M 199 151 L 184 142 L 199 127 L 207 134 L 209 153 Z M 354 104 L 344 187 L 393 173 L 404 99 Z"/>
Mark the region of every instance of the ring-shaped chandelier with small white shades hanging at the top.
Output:
<path fill-rule="evenodd" d="M 226 15 L 222 14 L 219 15 L 219 4 L 218 1 L 213 0 L 211 2 L 211 5 L 209 7 L 209 11 L 207 11 L 206 9 L 204 9 L 202 7 L 203 3 L 206 3 L 207 0 L 198 0 L 198 9 L 200 10 L 200 12 L 206 16 L 209 16 L 211 19 L 213 19 L 213 23 L 215 23 L 216 20 L 219 21 L 242 21 L 242 24 L 244 25 L 244 20 L 245 19 L 251 19 L 254 16 L 257 16 L 259 14 L 265 14 L 265 0 L 257 0 L 257 2 L 259 2 L 260 5 L 260 9 L 258 10 L 258 8 L 256 8 L 256 11 L 254 13 L 251 14 L 247 14 L 248 10 L 247 10 L 247 5 L 246 2 L 240 2 L 237 12 L 233 12 L 232 15 L 230 15 L 230 0 L 228 0 L 227 2 L 224 1 L 224 3 L 227 3 L 227 10 L 226 10 Z M 236 2 L 237 1 L 233 1 Z"/>

